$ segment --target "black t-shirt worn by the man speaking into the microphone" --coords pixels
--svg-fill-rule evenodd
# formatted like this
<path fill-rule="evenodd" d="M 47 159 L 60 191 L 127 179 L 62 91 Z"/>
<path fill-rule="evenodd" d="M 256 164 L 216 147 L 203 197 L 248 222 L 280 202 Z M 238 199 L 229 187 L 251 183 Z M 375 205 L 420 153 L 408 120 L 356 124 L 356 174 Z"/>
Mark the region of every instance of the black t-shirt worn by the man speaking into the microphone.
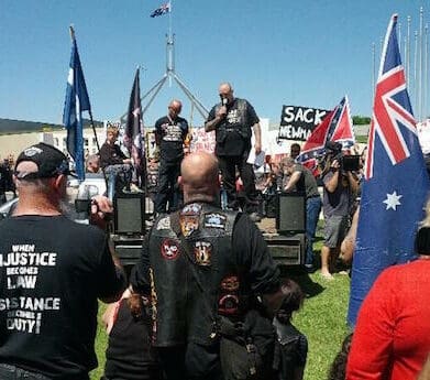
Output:
<path fill-rule="evenodd" d="M 241 112 L 239 104 L 245 102 L 246 112 Z M 217 110 L 221 105 L 214 106 L 208 117 L 208 121 L 211 121 L 217 116 Z M 234 98 L 231 105 L 227 106 L 227 117 L 220 124 L 225 127 L 227 133 L 225 137 L 220 139 L 220 134 L 217 132 L 217 145 L 216 154 L 217 155 L 242 155 L 244 152 L 249 152 L 251 149 L 251 131 L 249 133 L 249 139 L 244 139 L 241 134 L 241 129 L 249 128 L 251 129 L 254 124 L 260 122 L 260 119 L 254 110 L 254 107 L 247 100 Z M 243 126 L 246 123 L 246 126 Z M 220 141 L 222 140 L 222 141 Z"/>

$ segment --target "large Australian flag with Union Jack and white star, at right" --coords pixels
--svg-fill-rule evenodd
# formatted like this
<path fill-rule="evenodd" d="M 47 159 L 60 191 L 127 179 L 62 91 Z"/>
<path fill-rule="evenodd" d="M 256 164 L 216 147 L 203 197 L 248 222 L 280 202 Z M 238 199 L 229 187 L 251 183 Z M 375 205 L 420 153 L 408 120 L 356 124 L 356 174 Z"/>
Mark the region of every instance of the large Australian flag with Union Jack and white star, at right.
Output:
<path fill-rule="evenodd" d="M 412 260 L 429 191 L 393 15 L 381 59 L 368 133 L 348 322 L 387 267 Z"/>

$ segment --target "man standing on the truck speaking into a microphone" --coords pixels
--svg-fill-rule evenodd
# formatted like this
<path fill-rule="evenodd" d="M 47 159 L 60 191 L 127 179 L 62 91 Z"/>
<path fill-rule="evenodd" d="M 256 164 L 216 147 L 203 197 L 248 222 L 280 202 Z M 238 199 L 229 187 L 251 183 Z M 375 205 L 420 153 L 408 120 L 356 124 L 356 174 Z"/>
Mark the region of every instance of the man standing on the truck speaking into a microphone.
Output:
<path fill-rule="evenodd" d="M 216 131 L 216 155 L 219 160 L 222 183 L 228 196 L 228 207 L 239 208 L 235 189 L 236 169 L 243 182 L 245 203 L 244 211 L 254 221 L 260 221 L 258 202 L 255 191 L 255 175 L 251 164 L 246 163 L 251 150 L 252 130 L 255 138 L 255 154 L 262 151 L 262 132 L 260 119 L 254 107 L 245 100 L 233 96 L 229 83 L 219 86 L 221 101 L 213 106 L 205 123 L 205 131 Z"/>

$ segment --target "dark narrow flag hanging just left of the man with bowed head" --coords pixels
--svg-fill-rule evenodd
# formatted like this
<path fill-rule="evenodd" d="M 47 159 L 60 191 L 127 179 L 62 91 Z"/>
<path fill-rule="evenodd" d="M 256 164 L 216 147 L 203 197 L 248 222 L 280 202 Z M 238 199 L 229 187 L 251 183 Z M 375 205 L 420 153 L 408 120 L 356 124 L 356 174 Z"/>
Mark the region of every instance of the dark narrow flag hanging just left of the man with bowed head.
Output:
<path fill-rule="evenodd" d="M 134 76 L 133 87 L 130 95 L 129 112 L 124 131 L 124 145 L 130 152 L 134 164 L 134 181 L 140 182 L 145 167 L 144 135 L 142 130 L 141 87 L 139 68 Z"/>

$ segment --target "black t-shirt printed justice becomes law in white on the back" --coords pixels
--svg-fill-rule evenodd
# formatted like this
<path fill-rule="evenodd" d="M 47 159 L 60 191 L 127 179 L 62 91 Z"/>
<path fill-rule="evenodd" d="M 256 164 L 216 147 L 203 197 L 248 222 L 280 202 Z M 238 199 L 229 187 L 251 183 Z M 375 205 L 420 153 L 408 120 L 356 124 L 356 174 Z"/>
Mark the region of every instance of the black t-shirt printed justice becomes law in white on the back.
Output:
<path fill-rule="evenodd" d="M 124 285 L 107 237 L 64 216 L 0 222 L 0 362 L 52 379 L 97 367 L 97 298 Z"/>

